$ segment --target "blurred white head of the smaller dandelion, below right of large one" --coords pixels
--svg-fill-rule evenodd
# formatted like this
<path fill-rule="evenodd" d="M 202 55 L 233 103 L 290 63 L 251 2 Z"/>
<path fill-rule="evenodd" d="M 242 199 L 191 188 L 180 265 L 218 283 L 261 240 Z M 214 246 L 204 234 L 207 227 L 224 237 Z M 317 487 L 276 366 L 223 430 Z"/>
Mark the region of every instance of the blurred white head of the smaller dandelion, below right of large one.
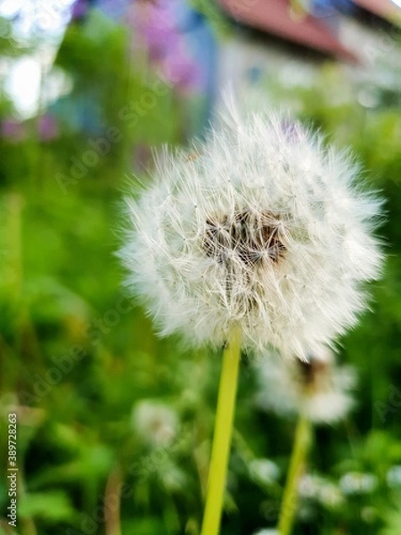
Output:
<path fill-rule="evenodd" d="M 356 373 L 336 366 L 331 350 L 323 348 L 308 360 L 285 360 L 277 354 L 254 363 L 258 374 L 258 407 L 278 415 L 300 415 L 315 424 L 331 424 L 354 406 Z"/>

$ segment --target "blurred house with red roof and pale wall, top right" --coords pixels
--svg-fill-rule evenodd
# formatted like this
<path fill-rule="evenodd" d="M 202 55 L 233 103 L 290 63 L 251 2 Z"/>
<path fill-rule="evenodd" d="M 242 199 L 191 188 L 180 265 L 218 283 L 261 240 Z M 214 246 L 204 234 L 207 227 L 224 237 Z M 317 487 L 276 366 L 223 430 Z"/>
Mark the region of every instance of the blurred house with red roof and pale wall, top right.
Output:
<path fill-rule="evenodd" d="M 269 77 L 307 86 L 327 60 L 340 62 L 361 84 L 398 92 L 401 8 L 390 0 L 219 3 L 235 28 L 220 49 L 219 85 L 230 80 L 245 100 Z"/>

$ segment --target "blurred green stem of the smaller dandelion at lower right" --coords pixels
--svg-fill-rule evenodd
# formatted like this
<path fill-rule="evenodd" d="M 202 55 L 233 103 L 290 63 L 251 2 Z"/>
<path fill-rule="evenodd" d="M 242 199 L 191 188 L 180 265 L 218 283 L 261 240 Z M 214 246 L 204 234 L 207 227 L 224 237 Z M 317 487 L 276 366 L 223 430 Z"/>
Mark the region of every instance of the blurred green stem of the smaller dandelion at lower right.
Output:
<path fill-rule="evenodd" d="M 290 468 L 282 497 L 282 506 L 278 523 L 278 532 L 280 535 L 291 535 L 295 513 L 298 507 L 299 477 L 304 470 L 310 441 L 310 421 L 305 416 L 300 415 L 297 429 L 295 431 Z"/>

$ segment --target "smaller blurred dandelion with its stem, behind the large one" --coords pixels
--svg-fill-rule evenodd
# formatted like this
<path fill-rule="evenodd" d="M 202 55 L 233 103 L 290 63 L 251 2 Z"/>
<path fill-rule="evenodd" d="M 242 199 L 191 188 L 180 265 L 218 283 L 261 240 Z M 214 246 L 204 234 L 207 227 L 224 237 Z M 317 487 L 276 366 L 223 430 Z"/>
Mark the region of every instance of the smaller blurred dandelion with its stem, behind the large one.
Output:
<path fill-rule="evenodd" d="M 299 481 L 312 441 L 312 424 L 330 424 L 348 414 L 353 404 L 349 391 L 355 384 L 355 374 L 350 367 L 334 366 L 333 353 L 327 348 L 309 354 L 306 361 L 286 361 L 276 355 L 268 363 L 262 358 L 258 366 L 258 405 L 273 408 L 279 414 L 299 416 L 278 523 L 280 535 L 290 535 L 302 489 Z M 313 488 L 315 481 L 309 478 L 308 482 Z M 306 490 L 306 481 L 303 489 Z M 323 494 L 325 505 L 336 506 L 340 498 L 337 490 L 326 485 Z"/>

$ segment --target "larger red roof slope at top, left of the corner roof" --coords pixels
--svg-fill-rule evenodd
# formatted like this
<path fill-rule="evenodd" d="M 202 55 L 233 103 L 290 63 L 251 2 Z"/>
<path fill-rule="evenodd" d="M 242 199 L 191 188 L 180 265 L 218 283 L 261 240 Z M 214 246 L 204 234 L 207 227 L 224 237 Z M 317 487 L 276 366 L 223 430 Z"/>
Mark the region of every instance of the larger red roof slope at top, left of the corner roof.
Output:
<path fill-rule="evenodd" d="M 287 0 L 247 0 L 246 2 L 219 0 L 219 2 L 225 12 L 247 26 L 328 53 L 341 60 L 358 62 L 354 53 L 340 43 L 328 24 L 310 14 L 302 18 L 294 17 L 291 15 Z"/>

